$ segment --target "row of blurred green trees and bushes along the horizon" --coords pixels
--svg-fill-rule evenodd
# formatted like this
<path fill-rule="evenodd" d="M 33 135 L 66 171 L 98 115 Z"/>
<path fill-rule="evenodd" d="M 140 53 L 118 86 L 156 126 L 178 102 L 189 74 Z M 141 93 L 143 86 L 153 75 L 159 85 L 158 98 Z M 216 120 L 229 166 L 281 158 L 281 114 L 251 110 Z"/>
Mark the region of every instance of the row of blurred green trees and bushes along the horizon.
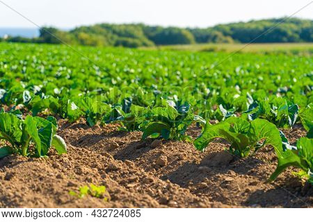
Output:
<path fill-rule="evenodd" d="M 210 28 L 177 28 L 145 24 L 95 24 L 70 31 L 40 28 L 39 37 L 7 37 L 7 42 L 81 44 L 88 46 L 157 46 L 194 43 L 313 42 L 313 20 L 262 19 L 220 24 Z"/>

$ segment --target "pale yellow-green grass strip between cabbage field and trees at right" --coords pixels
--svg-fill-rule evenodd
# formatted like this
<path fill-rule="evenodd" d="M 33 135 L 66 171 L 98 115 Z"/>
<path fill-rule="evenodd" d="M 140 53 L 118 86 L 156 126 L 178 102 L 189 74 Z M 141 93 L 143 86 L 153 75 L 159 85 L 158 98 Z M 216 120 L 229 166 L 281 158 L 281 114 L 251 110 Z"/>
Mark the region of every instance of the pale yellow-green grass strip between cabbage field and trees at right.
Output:
<path fill-rule="evenodd" d="M 273 44 L 185 44 L 143 47 L 141 49 L 161 49 L 178 51 L 225 51 L 247 53 L 293 53 L 312 54 L 313 43 L 273 43 Z"/>

